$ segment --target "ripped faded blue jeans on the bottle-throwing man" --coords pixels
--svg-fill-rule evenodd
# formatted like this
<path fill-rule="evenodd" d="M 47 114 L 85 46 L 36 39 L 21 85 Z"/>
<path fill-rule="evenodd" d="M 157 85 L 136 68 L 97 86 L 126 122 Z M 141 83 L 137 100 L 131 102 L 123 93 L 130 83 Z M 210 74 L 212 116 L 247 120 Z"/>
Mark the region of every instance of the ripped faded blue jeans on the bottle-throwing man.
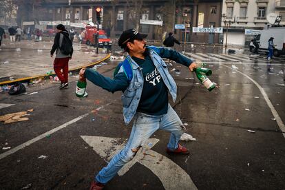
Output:
<path fill-rule="evenodd" d="M 168 105 L 167 114 L 162 116 L 136 113 L 131 135 L 129 136 L 125 148 L 120 150 L 119 153 L 110 160 L 107 167 L 104 167 L 98 173 L 95 177 L 96 182 L 105 184 L 114 178 L 116 173 L 118 173 L 127 162 L 134 158 L 140 146 L 144 145 L 146 140 L 158 129 L 164 129 L 171 133 L 167 147 L 173 150 L 177 149 L 178 141 L 184 133 L 184 125 L 170 105 Z"/>

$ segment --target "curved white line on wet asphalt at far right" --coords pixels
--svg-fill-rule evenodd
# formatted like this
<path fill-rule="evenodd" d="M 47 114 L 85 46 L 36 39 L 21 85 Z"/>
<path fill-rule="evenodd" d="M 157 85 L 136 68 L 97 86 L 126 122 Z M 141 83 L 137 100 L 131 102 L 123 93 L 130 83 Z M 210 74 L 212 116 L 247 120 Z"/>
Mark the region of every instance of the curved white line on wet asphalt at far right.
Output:
<path fill-rule="evenodd" d="M 231 70 L 234 70 L 232 67 L 229 67 L 227 65 L 224 65 L 224 66 L 230 68 Z M 277 113 L 276 109 L 274 108 L 273 104 L 269 100 L 269 98 L 268 98 L 266 92 L 264 91 L 264 89 L 260 86 L 260 84 L 258 84 L 255 80 L 253 80 L 253 78 L 249 77 L 248 75 L 244 74 L 243 72 L 240 72 L 239 70 L 235 70 L 235 71 L 239 72 L 240 74 L 242 74 L 246 78 L 249 78 L 249 80 L 251 80 L 258 87 L 258 89 L 260 89 L 260 92 L 264 96 L 264 99 L 265 99 L 268 107 L 271 109 L 271 112 L 272 112 L 274 118 L 276 118 L 277 125 L 278 125 L 279 129 L 282 131 L 282 135 L 285 138 L 285 125 L 284 125 L 282 119 L 280 118 L 279 114 Z"/>

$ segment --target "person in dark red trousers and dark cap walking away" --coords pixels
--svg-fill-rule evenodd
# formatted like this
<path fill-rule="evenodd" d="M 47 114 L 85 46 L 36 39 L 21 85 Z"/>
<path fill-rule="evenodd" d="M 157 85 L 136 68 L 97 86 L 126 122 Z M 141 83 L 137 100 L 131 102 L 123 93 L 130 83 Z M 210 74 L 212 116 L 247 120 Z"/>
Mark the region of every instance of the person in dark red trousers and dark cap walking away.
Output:
<path fill-rule="evenodd" d="M 54 59 L 54 72 L 61 81 L 59 89 L 63 89 L 68 88 L 68 61 L 72 59 L 73 48 L 70 54 L 63 54 L 60 49 L 61 45 L 63 45 L 63 38 L 70 39 L 70 35 L 68 34 L 67 30 L 65 30 L 65 26 L 62 24 L 56 26 L 56 31 L 57 33 L 54 37 L 54 45 L 52 45 L 52 50 L 50 50 L 50 56 L 52 57 L 56 51 L 56 58 Z M 63 70 L 63 72 L 61 72 L 61 70 Z"/>

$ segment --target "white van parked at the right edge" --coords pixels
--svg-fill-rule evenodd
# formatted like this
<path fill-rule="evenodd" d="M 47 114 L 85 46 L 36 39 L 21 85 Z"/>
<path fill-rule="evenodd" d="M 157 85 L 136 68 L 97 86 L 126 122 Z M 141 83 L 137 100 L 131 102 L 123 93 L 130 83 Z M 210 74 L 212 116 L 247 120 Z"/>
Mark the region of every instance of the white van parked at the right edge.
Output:
<path fill-rule="evenodd" d="M 255 36 L 255 40 L 260 43 L 259 51 L 268 52 L 268 39 L 271 37 L 274 38 L 273 42 L 275 44 L 273 55 L 285 54 L 285 27 L 268 28 Z M 250 48 L 250 50 L 253 49 Z"/>

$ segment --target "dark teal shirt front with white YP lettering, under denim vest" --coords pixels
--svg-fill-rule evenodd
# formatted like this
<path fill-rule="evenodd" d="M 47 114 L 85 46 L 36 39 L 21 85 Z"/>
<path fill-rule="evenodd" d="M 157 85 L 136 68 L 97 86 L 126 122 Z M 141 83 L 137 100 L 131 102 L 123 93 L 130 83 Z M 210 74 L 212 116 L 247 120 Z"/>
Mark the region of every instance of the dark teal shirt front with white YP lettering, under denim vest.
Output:
<path fill-rule="evenodd" d="M 162 81 L 154 62 L 149 55 L 145 55 L 145 59 L 139 59 L 135 56 L 131 58 L 142 68 L 144 78 L 142 96 L 137 111 L 155 116 L 167 114 L 167 86 Z"/>

